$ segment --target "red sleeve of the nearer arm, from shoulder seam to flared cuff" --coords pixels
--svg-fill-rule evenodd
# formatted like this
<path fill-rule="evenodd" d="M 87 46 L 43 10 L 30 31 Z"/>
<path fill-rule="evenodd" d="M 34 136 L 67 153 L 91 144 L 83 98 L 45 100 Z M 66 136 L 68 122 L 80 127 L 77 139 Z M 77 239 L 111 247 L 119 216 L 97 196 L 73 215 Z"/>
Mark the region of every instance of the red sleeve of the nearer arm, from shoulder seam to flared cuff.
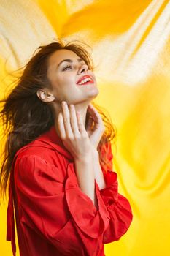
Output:
<path fill-rule="evenodd" d="M 56 165 L 36 155 L 24 155 L 16 160 L 15 189 L 20 222 L 45 237 L 62 253 L 73 248 L 81 251 L 80 241 L 87 248 L 93 243 L 95 248 L 109 225 L 109 213 L 97 184 L 98 209 L 78 186 L 73 162 L 67 167 L 65 180 L 60 173 Z M 92 253 L 89 251 L 89 255 Z"/>

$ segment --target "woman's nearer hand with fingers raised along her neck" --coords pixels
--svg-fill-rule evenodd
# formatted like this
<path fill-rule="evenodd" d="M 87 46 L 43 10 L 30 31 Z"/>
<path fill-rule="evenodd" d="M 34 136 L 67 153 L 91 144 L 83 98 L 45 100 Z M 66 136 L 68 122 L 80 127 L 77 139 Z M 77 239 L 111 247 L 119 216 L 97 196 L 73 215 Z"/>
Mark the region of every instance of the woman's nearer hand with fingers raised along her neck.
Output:
<path fill-rule="evenodd" d="M 58 114 L 56 125 L 63 145 L 74 159 L 87 158 L 91 154 L 92 147 L 82 117 L 79 112 L 76 113 L 74 105 L 68 107 L 66 102 L 62 102 L 61 106 L 62 112 Z"/>

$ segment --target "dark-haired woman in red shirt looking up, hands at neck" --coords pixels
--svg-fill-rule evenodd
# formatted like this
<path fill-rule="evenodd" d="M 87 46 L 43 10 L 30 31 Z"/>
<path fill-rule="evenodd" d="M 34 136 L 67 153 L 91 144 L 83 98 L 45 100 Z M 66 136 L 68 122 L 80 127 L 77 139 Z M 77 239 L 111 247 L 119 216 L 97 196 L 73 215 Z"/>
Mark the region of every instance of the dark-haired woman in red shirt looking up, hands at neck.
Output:
<path fill-rule="evenodd" d="M 9 181 L 13 255 L 12 201 L 21 256 L 101 256 L 131 225 L 131 206 L 112 171 L 115 131 L 94 108 L 97 95 L 88 51 L 53 42 L 34 54 L 5 100 L 1 192 Z"/>

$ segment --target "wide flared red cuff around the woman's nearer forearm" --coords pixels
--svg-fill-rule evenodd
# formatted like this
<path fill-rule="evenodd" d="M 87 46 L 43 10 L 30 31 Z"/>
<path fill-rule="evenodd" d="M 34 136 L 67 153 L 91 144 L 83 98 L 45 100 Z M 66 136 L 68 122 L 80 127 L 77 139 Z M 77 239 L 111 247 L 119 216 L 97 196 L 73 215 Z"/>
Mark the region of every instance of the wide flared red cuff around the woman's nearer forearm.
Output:
<path fill-rule="evenodd" d="M 95 181 L 95 191 L 98 200 L 98 209 L 93 201 L 82 192 L 74 172 L 74 163 L 68 165 L 66 179 L 66 201 L 69 211 L 77 226 L 88 236 L 98 238 L 109 225 L 109 212 L 101 200 L 98 184 Z"/>

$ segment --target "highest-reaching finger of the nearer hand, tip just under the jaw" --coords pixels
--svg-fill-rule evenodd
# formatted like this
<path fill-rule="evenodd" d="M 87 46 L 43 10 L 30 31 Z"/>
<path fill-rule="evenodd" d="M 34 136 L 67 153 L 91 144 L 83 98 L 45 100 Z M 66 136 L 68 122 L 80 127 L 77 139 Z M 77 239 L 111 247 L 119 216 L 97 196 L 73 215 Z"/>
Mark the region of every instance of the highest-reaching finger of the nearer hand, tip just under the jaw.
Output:
<path fill-rule="evenodd" d="M 63 124 L 65 127 L 66 136 L 71 138 L 73 133 L 72 133 L 72 127 L 70 124 L 69 108 L 66 102 L 62 102 L 61 106 L 63 110 Z"/>

